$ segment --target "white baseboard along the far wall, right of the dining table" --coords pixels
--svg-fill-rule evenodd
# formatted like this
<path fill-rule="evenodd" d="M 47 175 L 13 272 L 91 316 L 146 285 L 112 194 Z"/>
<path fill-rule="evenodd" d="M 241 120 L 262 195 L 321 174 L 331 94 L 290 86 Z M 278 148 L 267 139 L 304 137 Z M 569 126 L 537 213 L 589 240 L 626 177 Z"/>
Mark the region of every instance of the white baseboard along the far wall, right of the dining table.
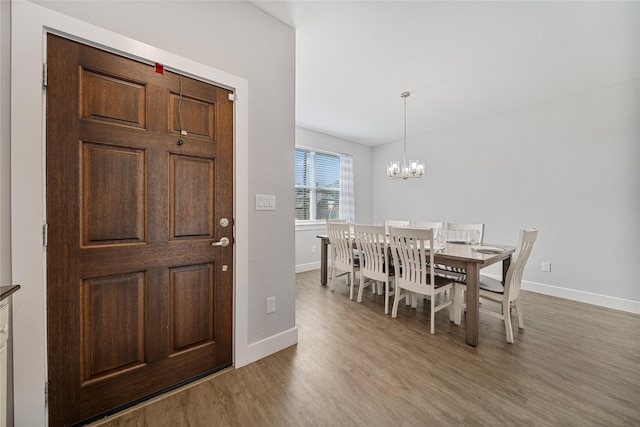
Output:
<path fill-rule="evenodd" d="M 501 276 L 487 274 L 494 279 L 501 279 Z M 564 298 L 571 301 L 583 302 L 597 305 L 599 307 L 612 308 L 614 310 L 626 311 L 640 314 L 640 301 L 632 301 L 623 298 L 611 297 L 608 295 L 595 294 L 591 292 L 579 291 L 576 289 L 562 288 L 560 286 L 546 285 L 544 283 L 522 281 L 522 289 L 536 292 L 538 294 L 552 297 Z"/>

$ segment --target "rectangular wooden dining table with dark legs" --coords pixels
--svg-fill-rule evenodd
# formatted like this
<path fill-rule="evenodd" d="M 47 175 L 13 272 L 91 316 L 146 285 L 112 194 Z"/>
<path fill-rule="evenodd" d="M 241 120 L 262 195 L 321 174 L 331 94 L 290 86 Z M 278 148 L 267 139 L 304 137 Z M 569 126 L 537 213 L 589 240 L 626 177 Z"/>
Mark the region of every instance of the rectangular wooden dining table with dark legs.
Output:
<path fill-rule="evenodd" d="M 329 237 L 317 236 L 321 240 L 320 247 L 320 283 L 327 284 L 327 265 Z M 447 242 L 443 249 L 434 253 L 434 263 L 450 267 L 462 268 L 466 271 L 466 342 L 471 346 L 478 345 L 480 323 L 479 283 L 480 270 L 502 262 L 502 278 L 507 277 L 511 258 L 516 251 L 515 246 L 503 244 L 470 245 L 460 242 Z"/>

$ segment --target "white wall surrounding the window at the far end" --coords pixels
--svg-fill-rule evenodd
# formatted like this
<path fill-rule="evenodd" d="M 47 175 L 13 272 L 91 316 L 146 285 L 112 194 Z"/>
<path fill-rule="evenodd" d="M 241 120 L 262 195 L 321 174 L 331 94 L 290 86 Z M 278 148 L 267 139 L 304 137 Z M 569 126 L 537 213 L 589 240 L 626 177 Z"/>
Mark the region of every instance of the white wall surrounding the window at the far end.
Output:
<path fill-rule="evenodd" d="M 353 156 L 356 223 L 370 223 L 372 148 L 301 127 L 296 127 L 296 144 Z M 293 183 L 293 181 L 291 182 Z M 293 184 L 291 188 L 293 188 Z M 324 223 L 296 225 L 297 272 L 320 267 L 320 241 L 316 236 L 326 234 L 326 232 L 327 228 Z"/>

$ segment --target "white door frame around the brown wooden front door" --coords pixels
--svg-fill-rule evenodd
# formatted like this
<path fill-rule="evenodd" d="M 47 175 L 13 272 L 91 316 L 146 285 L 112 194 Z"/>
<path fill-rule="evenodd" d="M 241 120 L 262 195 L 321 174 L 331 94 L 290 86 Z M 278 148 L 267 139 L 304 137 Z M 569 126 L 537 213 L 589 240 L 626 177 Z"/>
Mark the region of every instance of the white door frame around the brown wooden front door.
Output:
<path fill-rule="evenodd" d="M 28 425 L 47 425 L 46 98 L 42 64 L 46 34 L 154 64 L 232 89 L 234 102 L 234 301 L 233 362 L 251 362 L 248 342 L 249 90 L 248 81 L 179 55 L 79 21 L 27 1 L 12 2 L 11 213 L 12 279 L 22 284 L 14 301 L 15 414 Z M 39 117 L 41 126 L 34 126 Z M 38 119 L 35 120 L 37 122 Z M 33 173 L 39 171 L 39 173 Z M 39 408 L 42 408 L 41 410 Z M 17 418 L 16 418 L 17 419 Z"/>

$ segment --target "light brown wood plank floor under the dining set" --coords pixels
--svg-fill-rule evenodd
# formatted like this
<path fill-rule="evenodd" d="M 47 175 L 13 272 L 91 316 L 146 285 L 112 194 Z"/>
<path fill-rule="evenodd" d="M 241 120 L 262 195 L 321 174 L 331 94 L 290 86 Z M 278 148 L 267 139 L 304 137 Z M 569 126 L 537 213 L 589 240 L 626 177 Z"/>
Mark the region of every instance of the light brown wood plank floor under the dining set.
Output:
<path fill-rule="evenodd" d="M 474 348 L 446 309 L 430 335 L 428 304 L 392 319 L 368 289 L 296 283 L 296 346 L 94 425 L 640 425 L 638 315 L 523 292 L 515 343 L 481 315 Z"/>

